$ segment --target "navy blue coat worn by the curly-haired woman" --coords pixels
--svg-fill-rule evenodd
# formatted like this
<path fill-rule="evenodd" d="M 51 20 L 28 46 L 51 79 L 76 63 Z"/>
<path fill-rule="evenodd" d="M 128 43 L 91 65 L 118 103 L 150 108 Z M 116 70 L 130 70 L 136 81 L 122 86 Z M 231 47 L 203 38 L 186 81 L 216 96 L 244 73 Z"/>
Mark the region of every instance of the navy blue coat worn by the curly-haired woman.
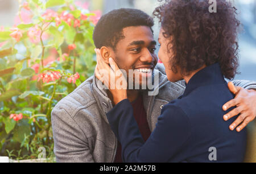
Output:
<path fill-rule="evenodd" d="M 230 131 L 236 117 L 223 119 L 231 109 L 223 111 L 222 105 L 233 97 L 216 63 L 197 72 L 183 96 L 163 107 L 146 142 L 129 100 L 115 105 L 107 117 L 125 162 L 242 162 L 246 129 Z"/>

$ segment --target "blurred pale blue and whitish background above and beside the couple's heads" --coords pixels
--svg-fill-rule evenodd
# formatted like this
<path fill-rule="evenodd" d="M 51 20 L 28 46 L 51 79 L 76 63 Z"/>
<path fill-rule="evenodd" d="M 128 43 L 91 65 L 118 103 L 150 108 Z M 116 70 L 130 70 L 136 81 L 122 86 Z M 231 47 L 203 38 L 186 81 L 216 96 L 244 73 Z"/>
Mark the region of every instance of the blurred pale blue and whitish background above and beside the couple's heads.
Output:
<path fill-rule="evenodd" d="M 102 14 L 121 7 L 135 8 L 152 14 L 159 5 L 157 0 L 77 0 L 88 3 L 89 10 L 101 10 Z M 256 0 L 233 0 L 243 24 L 239 37 L 241 74 L 236 79 L 256 81 Z M 13 26 L 18 11 L 18 0 L 0 0 L 0 26 Z M 158 22 L 154 26 L 155 39 L 158 38 Z"/>

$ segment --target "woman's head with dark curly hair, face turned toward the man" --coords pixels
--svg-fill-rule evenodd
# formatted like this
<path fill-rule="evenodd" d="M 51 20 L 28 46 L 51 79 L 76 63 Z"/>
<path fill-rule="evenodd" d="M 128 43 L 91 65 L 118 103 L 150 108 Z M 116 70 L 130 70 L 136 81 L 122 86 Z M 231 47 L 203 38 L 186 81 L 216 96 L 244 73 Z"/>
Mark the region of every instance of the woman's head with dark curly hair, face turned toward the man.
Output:
<path fill-rule="evenodd" d="M 236 8 L 225 0 L 217 1 L 217 13 L 210 13 L 209 6 L 208 0 L 169 0 L 154 11 L 162 26 L 159 58 L 169 80 L 181 80 L 214 63 L 220 63 L 226 78 L 237 73 Z"/>

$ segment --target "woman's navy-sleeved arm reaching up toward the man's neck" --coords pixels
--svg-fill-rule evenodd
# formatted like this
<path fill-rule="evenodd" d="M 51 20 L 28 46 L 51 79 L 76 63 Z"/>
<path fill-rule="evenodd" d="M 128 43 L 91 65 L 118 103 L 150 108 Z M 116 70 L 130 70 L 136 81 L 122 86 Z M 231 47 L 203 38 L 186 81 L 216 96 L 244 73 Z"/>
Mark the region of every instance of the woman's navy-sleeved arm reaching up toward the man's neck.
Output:
<path fill-rule="evenodd" d="M 188 143 L 191 135 L 187 115 L 174 105 L 164 106 L 156 128 L 146 143 L 139 132 L 129 100 L 122 100 L 106 115 L 122 145 L 124 162 L 175 161 L 172 158 Z"/>

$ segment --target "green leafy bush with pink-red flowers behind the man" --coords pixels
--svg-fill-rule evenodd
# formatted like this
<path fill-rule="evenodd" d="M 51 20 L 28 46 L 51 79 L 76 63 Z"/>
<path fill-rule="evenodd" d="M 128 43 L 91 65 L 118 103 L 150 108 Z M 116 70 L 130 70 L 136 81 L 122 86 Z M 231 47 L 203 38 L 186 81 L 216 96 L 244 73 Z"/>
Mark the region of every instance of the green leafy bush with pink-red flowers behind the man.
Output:
<path fill-rule="evenodd" d="M 92 76 L 100 11 L 73 0 L 19 1 L 13 27 L 0 26 L 0 156 L 53 157 L 51 110 Z"/>

